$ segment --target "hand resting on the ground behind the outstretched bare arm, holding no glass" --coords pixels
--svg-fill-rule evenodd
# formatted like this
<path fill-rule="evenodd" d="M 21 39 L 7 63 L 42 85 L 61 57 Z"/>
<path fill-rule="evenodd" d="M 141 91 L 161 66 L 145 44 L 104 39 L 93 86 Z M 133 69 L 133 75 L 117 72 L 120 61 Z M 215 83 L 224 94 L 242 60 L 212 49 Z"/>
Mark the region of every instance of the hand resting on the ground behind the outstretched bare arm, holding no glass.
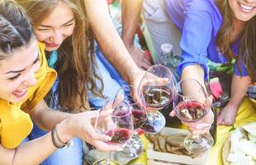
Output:
<path fill-rule="evenodd" d="M 149 59 L 146 58 L 143 50 L 136 48 L 135 45 L 126 46 L 126 48 L 129 51 L 132 59 L 135 61 L 135 64 L 138 65 L 138 67 L 146 70 L 152 65 Z"/>

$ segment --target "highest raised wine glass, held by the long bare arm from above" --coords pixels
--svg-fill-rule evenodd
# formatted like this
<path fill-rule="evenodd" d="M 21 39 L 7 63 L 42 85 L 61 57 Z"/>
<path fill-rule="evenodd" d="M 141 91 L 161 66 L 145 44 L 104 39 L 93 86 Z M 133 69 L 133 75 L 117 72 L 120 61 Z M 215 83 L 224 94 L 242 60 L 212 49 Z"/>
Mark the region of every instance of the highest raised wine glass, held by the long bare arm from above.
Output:
<path fill-rule="evenodd" d="M 145 98 L 148 118 L 140 128 L 148 134 L 156 134 L 165 126 L 164 115 L 159 112 L 173 100 L 173 74 L 169 68 L 156 64 L 148 68 L 140 81 Z"/>

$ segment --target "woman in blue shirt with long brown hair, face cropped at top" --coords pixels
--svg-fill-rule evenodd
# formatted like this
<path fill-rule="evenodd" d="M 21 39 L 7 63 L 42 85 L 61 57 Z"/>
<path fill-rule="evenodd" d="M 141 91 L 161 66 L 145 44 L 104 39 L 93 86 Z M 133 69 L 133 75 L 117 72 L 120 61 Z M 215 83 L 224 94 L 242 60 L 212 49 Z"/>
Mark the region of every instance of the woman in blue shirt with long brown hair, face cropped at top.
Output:
<path fill-rule="evenodd" d="M 256 1 L 166 0 L 166 11 L 182 31 L 182 62 L 178 66 L 182 79 L 204 83 L 209 73 L 207 59 L 220 64 L 235 59 L 230 101 L 218 117 L 219 125 L 232 125 L 249 84 L 256 78 Z"/>

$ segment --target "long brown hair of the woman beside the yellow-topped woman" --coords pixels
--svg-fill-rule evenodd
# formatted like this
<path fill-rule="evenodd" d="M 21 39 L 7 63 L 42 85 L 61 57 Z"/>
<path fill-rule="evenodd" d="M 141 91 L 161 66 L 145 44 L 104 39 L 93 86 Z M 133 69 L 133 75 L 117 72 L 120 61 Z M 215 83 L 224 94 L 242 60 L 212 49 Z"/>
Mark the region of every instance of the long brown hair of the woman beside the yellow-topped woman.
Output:
<path fill-rule="evenodd" d="M 58 49 L 55 68 L 59 75 L 57 92 L 62 111 L 84 111 L 87 108 L 88 90 L 96 96 L 102 96 L 102 89 L 97 91 L 95 82 L 96 79 L 102 82 L 102 79 L 95 71 L 93 35 L 88 25 L 83 0 L 17 1 L 26 9 L 34 27 L 40 25 L 40 22 L 50 15 L 60 1 L 72 8 L 76 24 L 73 35 L 64 40 Z"/>

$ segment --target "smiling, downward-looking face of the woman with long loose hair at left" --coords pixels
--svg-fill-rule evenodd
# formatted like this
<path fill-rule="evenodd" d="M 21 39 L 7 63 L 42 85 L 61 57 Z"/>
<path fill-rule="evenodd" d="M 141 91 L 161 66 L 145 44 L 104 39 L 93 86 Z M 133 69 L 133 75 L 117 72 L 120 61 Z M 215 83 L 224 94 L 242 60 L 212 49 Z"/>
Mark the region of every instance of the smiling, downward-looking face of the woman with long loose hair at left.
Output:
<path fill-rule="evenodd" d="M 45 43 L 45 50 L 58 50 L 63 41 L 73 34 L 75 20 L 72 9 L 64 2 L 35 28 L 37 40 Z"/>

